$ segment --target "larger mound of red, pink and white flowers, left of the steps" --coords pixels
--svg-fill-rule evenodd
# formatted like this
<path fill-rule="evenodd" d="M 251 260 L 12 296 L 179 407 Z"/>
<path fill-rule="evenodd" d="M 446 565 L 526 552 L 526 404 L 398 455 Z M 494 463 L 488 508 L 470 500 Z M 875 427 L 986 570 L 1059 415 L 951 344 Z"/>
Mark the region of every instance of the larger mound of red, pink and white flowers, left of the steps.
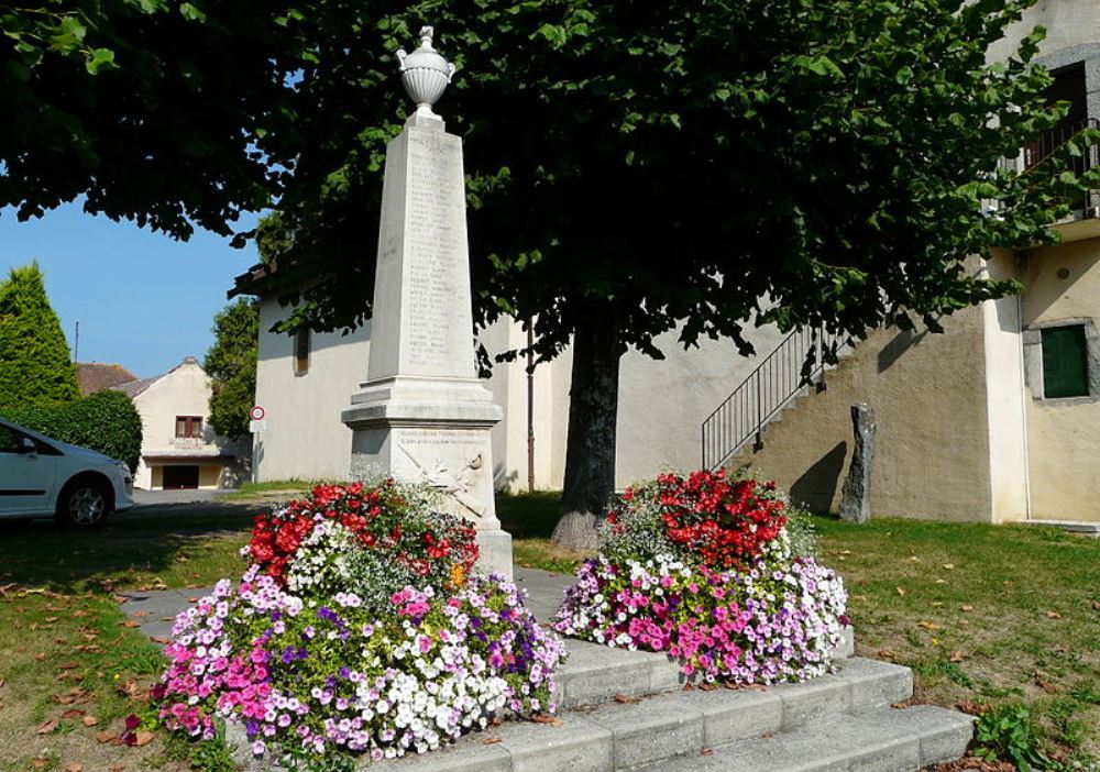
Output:
<path fill-rule="evenodd" d="M 552 713 L 561 640 L 514 584 L 471 573 L 472 526 L 436 505 L 387 481 L 318 487 L 256 518 L 241 582 L 176 619 L 160 720 L 198 739 L 239 721 L 253 753 L 308 769 Z"/>

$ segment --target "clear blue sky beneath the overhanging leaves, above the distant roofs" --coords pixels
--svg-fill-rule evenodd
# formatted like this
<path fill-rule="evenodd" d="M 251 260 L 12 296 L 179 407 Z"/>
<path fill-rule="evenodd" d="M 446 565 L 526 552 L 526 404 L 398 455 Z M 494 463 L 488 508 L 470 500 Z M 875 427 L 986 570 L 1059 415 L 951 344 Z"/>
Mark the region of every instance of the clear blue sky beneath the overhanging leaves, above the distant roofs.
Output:
<path fill-rule="evenodd" d="M 246 223 L 251 225 L 251 223 Z M 139 377 L 163 373 L 213 342 L 213 315 L 233 277 L 257 261 L 205 231 L 188 242 L 86 214 L 79 203 L 19 222 L 0 210 L 0 280 L 37 260 L 73 349 L 80 320 L 81 362 L 119 363 Z"/>

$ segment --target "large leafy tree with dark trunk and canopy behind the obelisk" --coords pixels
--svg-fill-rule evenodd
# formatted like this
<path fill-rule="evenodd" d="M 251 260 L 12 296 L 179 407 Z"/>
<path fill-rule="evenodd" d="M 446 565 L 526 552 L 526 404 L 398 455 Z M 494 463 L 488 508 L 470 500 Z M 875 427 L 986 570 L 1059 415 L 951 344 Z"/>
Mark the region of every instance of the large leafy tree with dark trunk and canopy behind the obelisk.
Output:
<path fill-rule="evenodd" d="M 24 93 L 100 148 L 43 189 L 155 227 L 276 196 L 276 288 L 306 301 L 290 326 L 345 327 L 371 313 L 385 143 L 410 107 L 392 54 L 435 24 L 459 67 L 439 111 L 465 139 L 479 319 L 534 319 L 543 359 L 575 340 L 564 506 L 585 512 L 612 487 L 628 348 L 659 356 L 679 327 L 747 351 L 755 321 L 935 329 L 1015 288 L 964 258 L 1049 242 L 1082 185 L 1059 157 L 999 168 L 1065 112 L 1030 66 L 1041 34 L 986 60 L 1031 1 L 116 0 L 95 7 L 118 69 L 75 93 L 88 56 L 44 55 Z M 68 145 L 28 135 L 40 113 L 6 130 L 0 201 L 47 206 L 36 186 L 68 179 Z"/>

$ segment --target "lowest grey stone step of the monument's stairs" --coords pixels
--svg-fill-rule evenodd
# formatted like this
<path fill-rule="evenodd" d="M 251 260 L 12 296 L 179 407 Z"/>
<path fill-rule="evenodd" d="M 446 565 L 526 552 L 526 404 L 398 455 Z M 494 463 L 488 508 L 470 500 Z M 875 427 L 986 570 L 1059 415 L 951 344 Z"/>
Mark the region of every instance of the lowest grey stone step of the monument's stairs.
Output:
<path fill-rule="evenodd" d="M 972 718 L 954 710 L 877 708 L 636 772 L 915 772 L 960 758 L 972 731 Z"/>

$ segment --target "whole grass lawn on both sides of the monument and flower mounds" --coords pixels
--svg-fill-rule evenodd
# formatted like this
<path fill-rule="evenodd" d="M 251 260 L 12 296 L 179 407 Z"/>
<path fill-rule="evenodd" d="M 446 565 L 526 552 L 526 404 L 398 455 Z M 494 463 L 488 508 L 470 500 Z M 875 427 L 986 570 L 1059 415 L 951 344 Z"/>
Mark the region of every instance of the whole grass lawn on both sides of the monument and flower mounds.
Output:
<path fill-rule="evenodd" d="M 90 534 L 0 523 L 0 772 L 189 769 L 160 737 L 110 742 L 161 670 L 116 595 L 238 574 L 271 489 L 251 495 L 120 514 Z M 570 571 L 583 558 L 549 541 L 556 494 L 504 496 L 497 509 L 517 563 Z M 858 653 L 913 668 L 920 702 L 1022 704 L 1049 749 L 1100 757 L 1100 542 L 1022 527 L 815 525 L 822 559 L 847 581 Z"/>

